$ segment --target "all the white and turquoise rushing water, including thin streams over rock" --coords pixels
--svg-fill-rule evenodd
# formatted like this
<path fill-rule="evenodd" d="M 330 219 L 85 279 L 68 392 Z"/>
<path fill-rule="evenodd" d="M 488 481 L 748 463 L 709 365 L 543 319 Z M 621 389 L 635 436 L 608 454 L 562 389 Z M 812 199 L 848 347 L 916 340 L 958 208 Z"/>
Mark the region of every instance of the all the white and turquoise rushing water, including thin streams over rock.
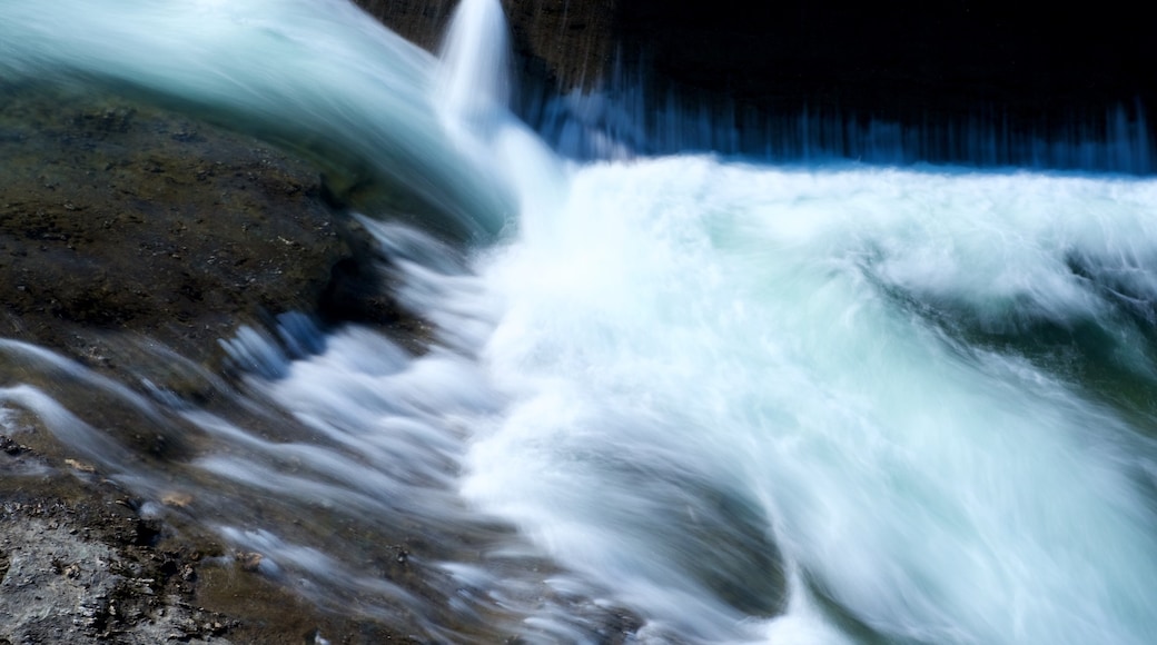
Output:
<path fill-rule="evenodd" d="M 147 512 L 194 491 L 180 512 L 265 573 L 428 639 L 598 642 L 621 607 L 640 642 L 1157 640 L 1157 183 L 568 164 L 503 110 L 498 2 L 467 2 L 442 65 L 338 1 L 104 5 L 0 2 L 0 65 L 420 177 L 477 240 L 367 218 L 433 348 L 246 329 L 258 425 L 0 344 L 34 375 L 0 401 Z M 126 455 L 64 383 L 194 457 Z M 442 542 L 420 564 L 443 601 L 364 569 L 399 524 Z"/>

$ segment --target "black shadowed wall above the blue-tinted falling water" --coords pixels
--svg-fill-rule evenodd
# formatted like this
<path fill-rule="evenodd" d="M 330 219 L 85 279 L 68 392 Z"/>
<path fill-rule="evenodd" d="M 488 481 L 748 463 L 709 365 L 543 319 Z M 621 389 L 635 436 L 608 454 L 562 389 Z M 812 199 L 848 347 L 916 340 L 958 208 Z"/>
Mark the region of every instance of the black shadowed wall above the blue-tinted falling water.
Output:
<path fill-rule="evenodd" d="M 432 50 L 457 5 L 356 1 Z M 657 86 L 653 96 L 735 108 L 752 123 L 808 111 L 1066 141 L 1104 136 L 1118 109 L 1130 121 L 1155 123 L 1157 29 L 1143 5 L 1121 0 L 1078 9 L 1016 0 L 502 3 L 523 87 L 547 94 L 598 86 L 619 64 L 642 71 Z M 1154 129 L 1145 138 L 1157 154 Z"/>

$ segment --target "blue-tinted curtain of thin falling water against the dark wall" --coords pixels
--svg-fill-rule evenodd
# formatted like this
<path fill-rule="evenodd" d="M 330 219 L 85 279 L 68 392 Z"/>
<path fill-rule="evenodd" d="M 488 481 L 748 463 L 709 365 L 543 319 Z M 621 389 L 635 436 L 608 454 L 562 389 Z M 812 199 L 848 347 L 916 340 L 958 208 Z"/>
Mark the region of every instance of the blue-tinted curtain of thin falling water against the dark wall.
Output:
<path fill-rule="evenodd" d="M 619 65 L 596 89 L 533 95 L 522 113 L 560 154 L 587 161 L 718 153 L 774 163 L 1157 172 L 1157 136 L 1140 103 L 1074 111 L 1059 123 L 998 108 L 900 123 L 823 105 L 757 110 L 727 96 L 664 89 Z"/>

